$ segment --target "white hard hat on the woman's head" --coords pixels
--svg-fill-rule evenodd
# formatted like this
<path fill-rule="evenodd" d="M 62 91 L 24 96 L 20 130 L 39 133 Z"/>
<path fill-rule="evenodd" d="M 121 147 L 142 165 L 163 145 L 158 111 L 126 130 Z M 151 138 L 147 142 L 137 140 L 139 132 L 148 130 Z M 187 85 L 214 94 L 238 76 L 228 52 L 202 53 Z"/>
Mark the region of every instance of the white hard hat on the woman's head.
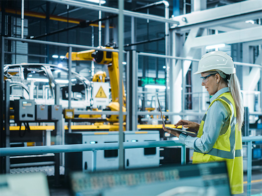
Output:
<path fill-rule="evenodd" d="M 220 70 L 225 74 L 236 73 L 236 68 L 232 58 L 222 51 L 213 51 L 204 54 L 199 61 L 198 71 L 194 74 L 203 73 L 210 70 Z"/>

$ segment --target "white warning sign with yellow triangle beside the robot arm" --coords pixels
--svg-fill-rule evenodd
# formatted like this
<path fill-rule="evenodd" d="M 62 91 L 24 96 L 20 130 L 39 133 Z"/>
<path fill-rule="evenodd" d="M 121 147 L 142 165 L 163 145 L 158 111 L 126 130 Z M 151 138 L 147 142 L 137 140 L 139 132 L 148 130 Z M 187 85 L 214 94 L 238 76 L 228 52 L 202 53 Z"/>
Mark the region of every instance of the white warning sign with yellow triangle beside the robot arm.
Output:
<path fill-rule="evenodd" d="M 93 106 L 108 106 L 109 104 L 109 83 L 94 82 L 93 90 Z"/>

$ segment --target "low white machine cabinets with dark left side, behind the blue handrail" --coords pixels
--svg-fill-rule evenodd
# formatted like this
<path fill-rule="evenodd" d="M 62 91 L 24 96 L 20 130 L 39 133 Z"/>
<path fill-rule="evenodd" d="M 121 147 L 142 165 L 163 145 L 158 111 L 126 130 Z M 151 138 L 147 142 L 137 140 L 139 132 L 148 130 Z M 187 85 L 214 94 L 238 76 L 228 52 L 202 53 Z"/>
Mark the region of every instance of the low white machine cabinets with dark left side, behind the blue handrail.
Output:
<path fill-rule="evenodd" d="M 159 131 L 125 131 L 125 142 L 159 141 Z M 105 144 L 118 142 L 117 131 L 110 132 L 74 132 L 66 135 L 67 144 Z M 118 150 L 97 150 L 66 153 L 65 169 L 67 172 L 114 170 L 119 168 Z M 95 157 L 95 158 L 94 158 Z M 125 168 L 159 166 L 160 153 L 157 148 L 135 148 L 124 150 Z"/>

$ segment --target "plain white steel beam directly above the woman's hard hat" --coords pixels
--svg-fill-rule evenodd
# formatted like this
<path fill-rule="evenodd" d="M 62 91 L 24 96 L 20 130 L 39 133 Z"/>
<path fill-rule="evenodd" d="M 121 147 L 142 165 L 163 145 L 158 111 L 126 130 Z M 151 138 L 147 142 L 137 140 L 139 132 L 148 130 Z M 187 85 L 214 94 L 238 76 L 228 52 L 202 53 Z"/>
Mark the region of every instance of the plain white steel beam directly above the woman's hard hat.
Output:
<path fill-rule="evenodd" d="M 234 44 L 240 42 L 250 42 L 262 39 L 262 26 L 230 31 L 214 35 L 196 37 L 191 43 L 191 47 L 204 47 L 216 44 Z"/>

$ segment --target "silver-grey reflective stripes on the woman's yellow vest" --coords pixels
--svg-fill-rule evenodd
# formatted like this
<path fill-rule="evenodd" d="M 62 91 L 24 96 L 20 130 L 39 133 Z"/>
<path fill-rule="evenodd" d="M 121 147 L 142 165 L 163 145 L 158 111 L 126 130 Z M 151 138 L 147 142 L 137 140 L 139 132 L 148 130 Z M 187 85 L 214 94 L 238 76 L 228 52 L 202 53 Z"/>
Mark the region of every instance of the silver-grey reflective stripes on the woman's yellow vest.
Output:
<path fill-rule="evenodd" d="M 234 107 L 232 103 L 225 97 L 221 96 L 217 100 L 224 100 L 230 107 L 231 107 L 231 122 L 230 122 L 230 127 L 231 127 L 231 133 L 229 136 L 229 142 L 230 142 L 230 151 L 225 151 L 225 150 L 219 150 L 217 148 L 212 148 L 208 153 L 209 155 L 212 156 L 217 156 L 221 158 L 226 158 L 226 159 L 234 159 L 235 157 L 240 157 L 242 156 L 242 149 L 235 150 L 235 125 L 236 125 L 236 119 L 234 115 Z M 203 117 L 203 120 L 205 122 L 207 114 Z M 198 151 L 196 151 L 198 152 Z M 235 153 L 234 153 L 235 152 Z"/>

